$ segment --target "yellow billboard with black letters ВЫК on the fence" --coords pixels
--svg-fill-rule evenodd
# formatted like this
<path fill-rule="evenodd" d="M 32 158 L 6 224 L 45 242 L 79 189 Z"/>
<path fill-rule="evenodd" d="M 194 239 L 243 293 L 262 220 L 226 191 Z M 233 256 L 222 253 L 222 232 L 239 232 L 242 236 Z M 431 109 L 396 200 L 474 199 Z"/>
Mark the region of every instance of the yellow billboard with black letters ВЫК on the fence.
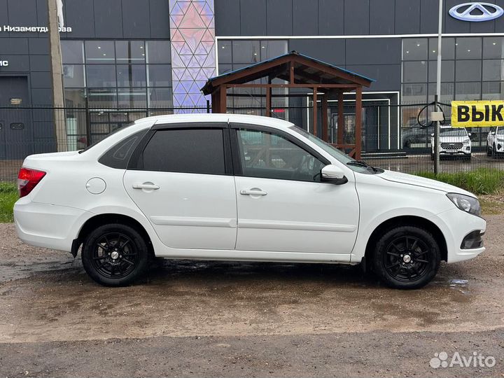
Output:
<path fill-rule="evenodd" d="M 451 126 L 453 127 L 501 125 L 504 125 L 504 100 L 451 102 Z"/>

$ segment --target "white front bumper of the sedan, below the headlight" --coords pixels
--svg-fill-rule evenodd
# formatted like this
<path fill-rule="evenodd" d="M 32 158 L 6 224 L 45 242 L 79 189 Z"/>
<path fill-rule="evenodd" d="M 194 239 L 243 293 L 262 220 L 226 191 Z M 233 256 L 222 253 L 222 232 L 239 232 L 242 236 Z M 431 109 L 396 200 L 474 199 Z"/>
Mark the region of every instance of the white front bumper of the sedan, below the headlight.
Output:
<path fill-rule="evenodd" d="M 470 245 L 465 242 L 471 238 L 477 239 L 477 237 L 474 238 L 475 234 L 478 232 L 482 234 L 486 231 L 486 221 L 483 218 L 454 207 L 454 209 L 437 214 L 431 220 L 440 226 L 444 239 L 446 239 L 447 262 L 469 260 L 485 250 L 482 244 Z M 471 236 L 468 237 L 470 234 Z M 480 246 L 470 248 L 476 245 Z"/>

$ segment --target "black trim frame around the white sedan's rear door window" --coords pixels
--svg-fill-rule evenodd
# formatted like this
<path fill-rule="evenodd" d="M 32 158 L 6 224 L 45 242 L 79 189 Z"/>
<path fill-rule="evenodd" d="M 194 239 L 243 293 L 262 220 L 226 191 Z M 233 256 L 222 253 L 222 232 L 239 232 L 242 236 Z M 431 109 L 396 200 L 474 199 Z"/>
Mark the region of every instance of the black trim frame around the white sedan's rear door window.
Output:
<path fill-rule="evenodd" d="M 162 123 L 155 124 L 151 129 L 144 135 L 140 143 L 135 148 L 132 153 L 130 162 L 127 165 L 127 169 L 130 171 L 147 171 L 151 172 L 149 169 L 144 169 L 144 150 L 151 141 L 154 134 L 162 130 L 211 130 L 211 129 L 221 129 L 223 130 L 223 148 L 224 148 L 224 174 L 209 174 L 214 176 L 232 176 L 233 175 L 233 164 L 232 164 L 232 153 L 231 153 L 231 142 L 230 142 L 230 132 L 229 125 L 226 123 Z M 158 172 L 158 171 L 156 171 Z M 160 171 L 166 172 L 166 171 Z M 166 172 L 169 173 L 169 172 Z M 186 174 L 204 174 L 204 173 L 194 173 L 194 172 L 177 172 Z M 207 174 L 207 173 L 205 173 Z"/>

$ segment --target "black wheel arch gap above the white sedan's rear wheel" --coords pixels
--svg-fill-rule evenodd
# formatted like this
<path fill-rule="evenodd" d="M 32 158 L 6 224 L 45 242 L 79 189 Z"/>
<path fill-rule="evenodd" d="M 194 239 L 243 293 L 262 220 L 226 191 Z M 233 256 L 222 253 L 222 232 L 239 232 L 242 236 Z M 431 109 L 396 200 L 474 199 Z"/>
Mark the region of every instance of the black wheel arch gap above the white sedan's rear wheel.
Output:
<path fill-rule="evenodd" d="M 90 232 L 96 228 L 98 228 L 101 225 L 107 225 L 111 223 L 120 223 L 123 225 L 128 225 L 131 228 L 134 228 L 139 232 L 139 234 L 144 237 L 148 248 L 149 248 L 149 253 L 154 256 L 154 248 L 153 248 L 153 243 L 151 240 L 151 237 L 148 235 L 148 232 L 144 228 L 139 221 L 136 219 L 132 218 L 131 216 L 127 216 L 124 214 L 97 214 L 95 216 L 92 216 L 91 218 L 87 219 L 83 226 L 80 228 L 78 235 L 76 239 L 73 240 L 72 246 L 71 246 L 71 254 L 73 257 L 76 257 L 78 248 L 80 247 L 81 244 L 85 241 L 85 238 L 87 235 L 90 234 Z"/>

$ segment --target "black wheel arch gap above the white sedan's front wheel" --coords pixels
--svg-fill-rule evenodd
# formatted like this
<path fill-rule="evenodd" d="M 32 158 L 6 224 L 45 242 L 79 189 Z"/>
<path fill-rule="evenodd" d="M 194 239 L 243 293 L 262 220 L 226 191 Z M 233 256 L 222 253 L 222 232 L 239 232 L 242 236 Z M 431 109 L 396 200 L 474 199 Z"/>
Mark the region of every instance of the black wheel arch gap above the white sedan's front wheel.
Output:
<path fill-rule="evenodd" d="M 441 260 L 444 261 L 448 260 L 448 248 L 446 238 L 444 237 L 440 228 L 437 227 L 437 225 L 435 225 L 435 223 L 429 221 L 426 218 L 422 218 L 421 216 L 395 216 L 380 223 L 376 228 L 374 228 L 369 239 L 367 239 L 364 254 L 365 264 L 367 265 L 366 268 L 369 268 L 371 266 L 370 263 L 372 262 L 374 246 L 376 246 L 379 237 L 381 235 L 384 235 L 386 231 L 391 230 L 392 228 L 398 227 L 400 225 L 401 226 L 413 225 L 428 230 L 430 233 L 432 233 L 433 237 L 439 243 Z"/>

